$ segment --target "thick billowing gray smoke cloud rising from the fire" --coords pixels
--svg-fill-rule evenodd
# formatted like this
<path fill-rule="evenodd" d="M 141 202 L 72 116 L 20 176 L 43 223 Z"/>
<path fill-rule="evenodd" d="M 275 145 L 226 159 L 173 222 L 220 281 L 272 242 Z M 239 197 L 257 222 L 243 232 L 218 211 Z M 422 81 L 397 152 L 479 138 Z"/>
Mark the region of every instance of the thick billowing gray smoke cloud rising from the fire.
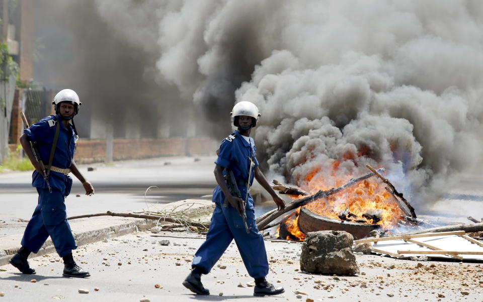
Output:
<path fill-rule="evenodd" d="M 235 97 L 256 103 L 259 157 L 286 181 L 382 165 L 429 200 L 481 157 L 479 0 L 96 4 L 117 37 L 158 54 L 158 83 L 214 125 Z"/>

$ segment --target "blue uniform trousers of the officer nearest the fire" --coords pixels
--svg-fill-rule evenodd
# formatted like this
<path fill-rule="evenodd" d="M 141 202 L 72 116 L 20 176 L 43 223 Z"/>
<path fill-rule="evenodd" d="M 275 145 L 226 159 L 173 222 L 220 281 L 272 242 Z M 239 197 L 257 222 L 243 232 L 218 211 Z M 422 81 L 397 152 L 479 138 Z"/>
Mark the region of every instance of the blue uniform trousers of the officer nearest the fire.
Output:
<path fill-rule="evenodd" d="M 240 190 L 242 194 L 245 193 L 241 187 Z M 255 222 L 253 199 L 251 196 L 248 199 L 246 212 L 247 224 L 252 228 L 250 233 L 247 234 L 243 219 L 238 215 L 236 209 L 231 206 L 223 208 L 221 203 L 216 202 L 206 241 L 196 252 L 192 267 L 203 268 L 205 273 L 209 273 L 231 241 L 235 239 L 241 259 L 243 259 L 249 275 L 253 278 L 262 278 L 268 274 L 265 244 L 262 235 L 258 233 Z"/>

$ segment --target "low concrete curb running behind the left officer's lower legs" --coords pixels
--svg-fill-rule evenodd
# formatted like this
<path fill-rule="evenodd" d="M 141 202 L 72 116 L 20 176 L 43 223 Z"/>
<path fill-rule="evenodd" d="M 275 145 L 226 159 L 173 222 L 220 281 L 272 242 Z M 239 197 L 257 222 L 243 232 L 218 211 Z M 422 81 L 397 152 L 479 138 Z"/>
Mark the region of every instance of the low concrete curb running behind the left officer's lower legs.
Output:
<path fill-rule="evenodd" d="M 134 221 L 133 221 L 134 220 Z M 141 225 L 147 226 L 148 223 L 145 219 L 130 219 L 129 222 L 120 223 L 104 228 L 87 230 L 84 232 L 74 232 L 75 242 L 78 246 L 86 245 L 89 243 L 101 241 L 108 238 L 114 238 L 118 236 L 123 236 L 138 231 Z M 10 237 L 16 237 L 17 247 L 15 248 L 1 248 L 0 247 L 0 266 L 9 264 L 9 260 L 17 253 L 20 248 L 21 235 L 13 235 Z M 45 254 L 55 252 L 55 247 L 52 241 L 48 239 L 37 254 L 31 254 L 30 258 L 35 258 Z"/>

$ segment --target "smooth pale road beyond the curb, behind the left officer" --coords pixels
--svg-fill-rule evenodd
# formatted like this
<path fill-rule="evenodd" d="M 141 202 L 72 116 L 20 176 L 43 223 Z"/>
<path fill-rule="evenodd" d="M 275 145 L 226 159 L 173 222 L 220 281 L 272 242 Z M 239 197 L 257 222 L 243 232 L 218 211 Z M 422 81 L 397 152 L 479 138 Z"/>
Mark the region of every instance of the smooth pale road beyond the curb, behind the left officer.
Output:
<path fill-rule="evenodd" d="M 185 198 L 211 194 L 216 185 L 213 176 L 215 157 L 166 157 L 115 162 L 113 165 L 81 165 L 82 173 L 96 190 L 86 196 L 74 177 L 71 194 L 66 198 L 69 216 L 106 211 L 146 209 L 149 204 L 165 204 Z M 88 171 L 94 167 L 94 171 Z M 79 194 L 79 197 L 76 197 Z M 0 237 L 23 232 L 37 204 L 37 191 L 31 185 L 31 172 L 0 174 Z"/>

